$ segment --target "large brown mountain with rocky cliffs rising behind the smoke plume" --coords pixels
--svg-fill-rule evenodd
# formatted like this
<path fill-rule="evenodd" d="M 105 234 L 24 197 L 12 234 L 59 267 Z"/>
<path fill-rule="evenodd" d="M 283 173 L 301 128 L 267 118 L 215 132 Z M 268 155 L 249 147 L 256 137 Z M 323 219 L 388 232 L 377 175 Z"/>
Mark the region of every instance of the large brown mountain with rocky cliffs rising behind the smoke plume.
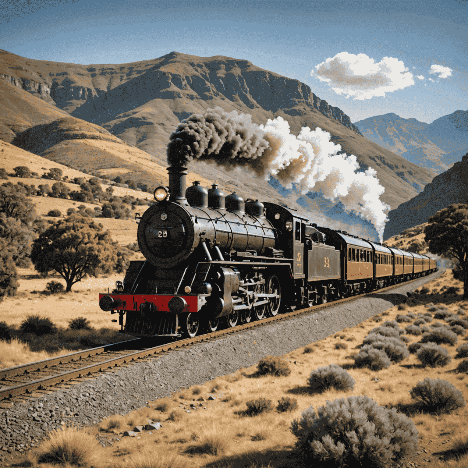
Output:
<path fill-rule="evenodd" d="M 58 111 L 99 124 L 164 163 L 169 135 L 180 120 L 220 106 L 249 113 L 256 124 L 283 117 L 296 135 L 303 126 L 329 132 L 343 151 L 357 156 L 361 170 L 369 166 L 376 169 L 386 188 L 381 199 L 394 208 L 414 197 L 433 176 L 364 138 L 350 117 L 321 100 L 304 83 L 263 70 L 247 60 L 171 52 L 131 64 L 86 66 L 25 59 L 0 51 L 0 73 L 10 77 L 10 84 L 11 77 L 15 83 L 19 83 L 16 78 L 21 78 L 22 83 L 44 83 L 42 95 L 48 88 Z M 8 141 L 19 133 L 21 120 L 17 116 L 18 122 L 12 123 L 11 109 L 0 115 Z M 22 143 L 18 140 L 18 144 Z M 200 163 L 197 170 L 213 180 L 231 178 L 225 169 L 209 164 Z"/>

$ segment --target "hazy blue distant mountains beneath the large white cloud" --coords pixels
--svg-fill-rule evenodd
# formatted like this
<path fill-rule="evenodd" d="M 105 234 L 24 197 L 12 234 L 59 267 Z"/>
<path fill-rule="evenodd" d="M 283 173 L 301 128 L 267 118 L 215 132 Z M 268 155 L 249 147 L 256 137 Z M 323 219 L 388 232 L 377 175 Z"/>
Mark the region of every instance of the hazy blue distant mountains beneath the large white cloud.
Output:
<path fill-rule="evenodd" d="M 368 139 L 435 173 L 468 151 L 468 111 L 456 110 L 431 124 L 389 113 L 354 123 Z"/>

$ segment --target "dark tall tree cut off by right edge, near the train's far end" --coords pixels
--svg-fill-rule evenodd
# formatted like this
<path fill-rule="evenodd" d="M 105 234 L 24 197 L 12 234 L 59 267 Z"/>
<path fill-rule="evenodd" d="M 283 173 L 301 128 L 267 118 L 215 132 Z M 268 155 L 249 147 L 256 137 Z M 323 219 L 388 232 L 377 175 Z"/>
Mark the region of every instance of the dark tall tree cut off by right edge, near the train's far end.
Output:
<path fill-rule="evenodd" d="M 468 205 L 454 203 L 427 221 L 424 234 L 429 251 L 459 263 L 463 299 L 468 299 Z"/>

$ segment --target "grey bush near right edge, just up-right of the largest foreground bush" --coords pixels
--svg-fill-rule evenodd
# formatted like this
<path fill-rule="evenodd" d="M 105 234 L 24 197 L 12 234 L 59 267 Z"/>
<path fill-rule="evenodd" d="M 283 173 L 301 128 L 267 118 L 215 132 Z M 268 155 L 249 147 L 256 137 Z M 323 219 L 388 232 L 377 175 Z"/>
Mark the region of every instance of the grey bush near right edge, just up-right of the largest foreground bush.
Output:
<path fill-rule="evenodd" d="M 426 377 L 417 382 L 409 394 L 413 400 L 424 403 L 431 411 L 448 413 L 452 409 L 465 407 L 463 394 L 447 380 Z"/>

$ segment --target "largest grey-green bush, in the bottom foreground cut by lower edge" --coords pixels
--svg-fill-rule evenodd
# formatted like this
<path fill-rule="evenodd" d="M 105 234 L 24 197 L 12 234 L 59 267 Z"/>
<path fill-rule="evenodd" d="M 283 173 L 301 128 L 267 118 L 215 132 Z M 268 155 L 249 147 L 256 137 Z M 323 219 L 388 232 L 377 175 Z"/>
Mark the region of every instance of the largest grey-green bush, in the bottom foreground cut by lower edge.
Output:
<path fill-rule="evenodd" d="M 290 429 L 307 466 L 383 468 L 417 450 L 413 421 L 366 395 L 328 401 L 317 412 L 311 406 Z"/>

